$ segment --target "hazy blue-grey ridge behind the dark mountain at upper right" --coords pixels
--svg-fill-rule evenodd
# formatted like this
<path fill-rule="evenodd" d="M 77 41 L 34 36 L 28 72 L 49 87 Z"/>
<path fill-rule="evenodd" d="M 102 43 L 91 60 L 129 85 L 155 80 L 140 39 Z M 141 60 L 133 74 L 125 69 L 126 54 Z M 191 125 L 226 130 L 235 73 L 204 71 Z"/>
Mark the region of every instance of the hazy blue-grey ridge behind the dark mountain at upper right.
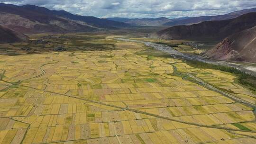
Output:
<path fill-rule="evenodd" d="M 231 12 L 231 13 L 228 13 L 225 15 L 201 16 L 201 17 L 186 18 L 186 19 L 181 19 L 181 20 L 174 20 L 174 21 L 167 22 L 164 25 L 165 26 L 192 25 L 192 24 L 201 23 L 203 21 L 232 19 L 232 18 L 237 18 L 243 14 L 250 13 L 250 12 L 256 12 L 256 8 L 238 10 L 238 11 Z"/>

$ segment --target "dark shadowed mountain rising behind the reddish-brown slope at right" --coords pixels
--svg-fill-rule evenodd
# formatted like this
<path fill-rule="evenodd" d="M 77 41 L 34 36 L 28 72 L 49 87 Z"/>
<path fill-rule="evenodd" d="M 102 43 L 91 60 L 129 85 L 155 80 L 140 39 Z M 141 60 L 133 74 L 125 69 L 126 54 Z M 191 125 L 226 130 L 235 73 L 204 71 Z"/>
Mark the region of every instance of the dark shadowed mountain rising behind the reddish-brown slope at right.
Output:
<path fill-rule="evenodd" d="M 169 27 L 153 36 L 163 39 L 221 40 L 254 26 L 256 26 L 256 12 L 228 20 L 205 21 L 191 26 Z"/>

